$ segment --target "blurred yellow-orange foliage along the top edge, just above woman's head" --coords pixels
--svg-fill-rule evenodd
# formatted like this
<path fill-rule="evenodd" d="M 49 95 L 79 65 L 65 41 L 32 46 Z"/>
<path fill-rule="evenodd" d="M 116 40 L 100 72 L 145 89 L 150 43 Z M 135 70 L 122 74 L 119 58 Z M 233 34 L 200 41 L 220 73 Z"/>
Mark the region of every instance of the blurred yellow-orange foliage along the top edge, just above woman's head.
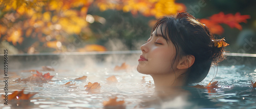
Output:
<path fill-rule="evenodd" d="M 175 0 L 96 0 L 96 3 L 101 11 L 116 9 L 131 12 L 133 15 L 140 12 L 144 16 L 155 16 L 156 18 L 163 15 L 174 15 L 186 10 L 184 4 L 175 3 Z"/>

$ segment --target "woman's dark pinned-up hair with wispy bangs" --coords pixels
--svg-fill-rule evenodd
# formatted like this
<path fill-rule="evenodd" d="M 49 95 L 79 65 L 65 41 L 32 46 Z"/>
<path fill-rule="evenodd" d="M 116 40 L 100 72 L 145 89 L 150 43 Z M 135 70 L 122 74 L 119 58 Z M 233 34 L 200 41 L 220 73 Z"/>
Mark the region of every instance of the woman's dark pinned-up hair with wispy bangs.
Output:
<path fill-rule="evenodd" d="M 163 38 L 175 46 L 175 60 L 179 56 L 195 57 L 194 64 L 185 73 L 186 84 L 199 83 L 207 76 L 212 63 L 217 64 L 224 59 L 224 47 L 214 46 L 216 39 L 207 26 L 186 12 L 178 13 L 176 17 L 160 17 L 152 32 L 159 27 Z"/>

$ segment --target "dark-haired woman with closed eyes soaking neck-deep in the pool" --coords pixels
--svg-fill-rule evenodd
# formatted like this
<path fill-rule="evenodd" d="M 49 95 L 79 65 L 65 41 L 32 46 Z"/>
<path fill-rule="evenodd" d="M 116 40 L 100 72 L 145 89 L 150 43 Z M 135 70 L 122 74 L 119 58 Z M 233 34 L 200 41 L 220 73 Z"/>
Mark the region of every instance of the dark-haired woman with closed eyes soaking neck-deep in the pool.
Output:
<path fill-rule="evenodd" d="M 137 70 L 150 74 L 155 87 L 199 83 L 211 64 L 224 59 L 223 39 L 215 39 L 205 24 L 183 12 L 160 17 L 150 38 L 141 46 Z"/>

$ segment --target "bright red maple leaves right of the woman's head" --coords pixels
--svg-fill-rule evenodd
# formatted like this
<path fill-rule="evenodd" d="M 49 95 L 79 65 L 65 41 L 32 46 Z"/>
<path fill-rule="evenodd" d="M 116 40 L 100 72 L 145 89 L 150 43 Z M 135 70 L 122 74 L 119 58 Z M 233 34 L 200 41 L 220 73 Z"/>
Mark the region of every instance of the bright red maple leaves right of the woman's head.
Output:
<path fill-rule="evenodd" d="M 223 12 L 220 12 L 218 14 L 212 15 L 211 17 L 209 17 L 209 19 L 200 19 L 200 22 L 206 24 L 212 34 L 221 35 L 223 33 L 223 28 L 220 25 L 221 23 L 227 24 L 228 26 L 230 26 L 230 28 L 237 28 L 239 30 L 242 30 L 242 26 L 239 23 L 246 23 L 246 19 L 249 18 L 250 15 L 241 15 L 239 12 L 234 15 L 225 15 Z"/>

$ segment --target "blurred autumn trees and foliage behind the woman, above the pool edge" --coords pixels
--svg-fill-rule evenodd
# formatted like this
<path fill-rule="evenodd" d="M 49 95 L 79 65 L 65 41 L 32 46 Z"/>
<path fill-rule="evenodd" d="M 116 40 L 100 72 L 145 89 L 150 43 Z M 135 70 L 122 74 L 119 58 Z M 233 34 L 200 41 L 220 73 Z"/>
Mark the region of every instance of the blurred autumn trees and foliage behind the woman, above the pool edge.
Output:
<path fill-rule="evenodd" d="M 253 0 L 0 0 L 0 53 L 140 50 L 156 19 L 187 11 L 229 52 L 256 53 Z"/>

